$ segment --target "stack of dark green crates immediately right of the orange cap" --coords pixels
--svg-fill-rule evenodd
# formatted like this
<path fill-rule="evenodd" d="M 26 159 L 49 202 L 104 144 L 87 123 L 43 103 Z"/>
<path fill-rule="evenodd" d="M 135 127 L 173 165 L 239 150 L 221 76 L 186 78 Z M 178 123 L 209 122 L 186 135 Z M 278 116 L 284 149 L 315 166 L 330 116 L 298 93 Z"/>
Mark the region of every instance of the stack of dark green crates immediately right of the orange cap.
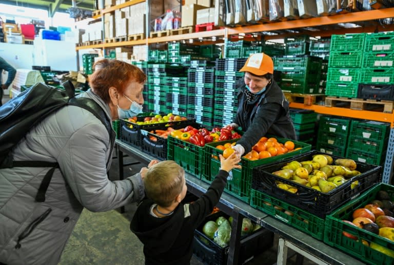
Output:
<path fill-rule="evenodd" d="M 309 55 L 275 57 L 275 69 L 281 71 L 279 86 L 291 93 L 318 93 L 322 59 Z"/>

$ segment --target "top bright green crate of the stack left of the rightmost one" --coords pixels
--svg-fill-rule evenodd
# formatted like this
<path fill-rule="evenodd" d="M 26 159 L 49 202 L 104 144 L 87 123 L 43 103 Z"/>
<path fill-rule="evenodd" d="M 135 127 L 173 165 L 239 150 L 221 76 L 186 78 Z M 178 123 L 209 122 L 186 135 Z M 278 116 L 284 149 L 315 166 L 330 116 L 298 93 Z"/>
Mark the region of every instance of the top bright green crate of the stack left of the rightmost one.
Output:
<path fill-rule="evenodd" d="M 330 52 L 363 51 L 364 42 L 365 42 L 365 33 L 331 35 Z"/>

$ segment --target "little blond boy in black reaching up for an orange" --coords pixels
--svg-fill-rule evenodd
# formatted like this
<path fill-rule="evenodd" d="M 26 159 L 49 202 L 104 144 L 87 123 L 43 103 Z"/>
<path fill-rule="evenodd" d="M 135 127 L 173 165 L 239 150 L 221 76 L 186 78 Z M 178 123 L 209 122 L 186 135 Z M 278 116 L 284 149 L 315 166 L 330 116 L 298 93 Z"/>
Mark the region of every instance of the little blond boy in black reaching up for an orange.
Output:
<path fill-rule="evenodd" d="M 138 206 L 130 230 L 144 244 L 145 264 L 189 264 L 193 254 L 194 230 L 219 202 L 228 172 L 240 168 L 233 153 L 220 156 L 221 170 L 207 192 L 193 203 L 181 203 L 187 187 L 185 172 L 174 161 L 148 168 L 144 177 L 145 199 Z"/>

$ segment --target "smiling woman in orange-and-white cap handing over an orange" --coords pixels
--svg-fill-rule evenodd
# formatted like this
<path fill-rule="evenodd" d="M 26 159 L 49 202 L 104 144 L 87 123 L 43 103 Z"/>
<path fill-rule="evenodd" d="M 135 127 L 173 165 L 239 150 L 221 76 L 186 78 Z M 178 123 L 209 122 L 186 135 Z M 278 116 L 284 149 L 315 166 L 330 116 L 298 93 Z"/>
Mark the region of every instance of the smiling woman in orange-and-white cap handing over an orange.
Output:
<path fill-rule="evenodd" d="M 266 134 L 295 140 L 289 103 L 273 80 L 273 62 L 265 53 L 251 54 L 240 72 L 244 78 L 237 82 L 238 112 L 227 126 L 245 131 L 232 148 L 242 156 Z"/>

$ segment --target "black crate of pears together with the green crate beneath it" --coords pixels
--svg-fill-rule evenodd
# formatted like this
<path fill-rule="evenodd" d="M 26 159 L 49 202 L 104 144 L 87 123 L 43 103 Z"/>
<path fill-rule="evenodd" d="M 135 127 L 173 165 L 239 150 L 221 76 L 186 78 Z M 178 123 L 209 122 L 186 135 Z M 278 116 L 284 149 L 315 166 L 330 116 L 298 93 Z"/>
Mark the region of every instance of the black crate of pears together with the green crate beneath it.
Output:
<path fill-rule="evenodd" d="M 294 160 L 312 161 L 314 156 L 322 154 L 324 153 L 313 150 L 277 163 L 255 167 L 250 205 L 316 239 L 323 240 L 325 228 L 330 229 L 325 225 L 326 217 L 376 185 L 380 181 L 381 167 L 358 162 L 357 170 L 361 174 L 349 177 L 348 181 L 333 187 L 329 192 L 321 192 L 301 182 L 273 174 Z M 333 161 L 343 159 L 334 155 L 331 155 L 331 158 Z M 291 186 L 292 191 L 283 185 Z"/>

